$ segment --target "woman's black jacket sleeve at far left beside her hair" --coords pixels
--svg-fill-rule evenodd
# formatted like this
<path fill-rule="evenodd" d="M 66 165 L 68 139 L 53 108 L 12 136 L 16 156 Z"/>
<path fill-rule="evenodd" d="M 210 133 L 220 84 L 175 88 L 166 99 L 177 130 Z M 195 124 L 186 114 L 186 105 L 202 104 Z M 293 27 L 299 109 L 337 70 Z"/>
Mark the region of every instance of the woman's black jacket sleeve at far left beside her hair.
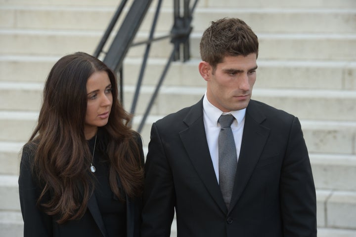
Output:
<path fill-rule="evenodd" d="M 33 160 L 33 154 L 29 152 L 25 145 L 18 180 L 21 212 L 24 221 L 24 237 L 51 237 L 52 218 L 37 206 L 37 199 L 42 189 L 32 175 L 31 160 Z"/>

